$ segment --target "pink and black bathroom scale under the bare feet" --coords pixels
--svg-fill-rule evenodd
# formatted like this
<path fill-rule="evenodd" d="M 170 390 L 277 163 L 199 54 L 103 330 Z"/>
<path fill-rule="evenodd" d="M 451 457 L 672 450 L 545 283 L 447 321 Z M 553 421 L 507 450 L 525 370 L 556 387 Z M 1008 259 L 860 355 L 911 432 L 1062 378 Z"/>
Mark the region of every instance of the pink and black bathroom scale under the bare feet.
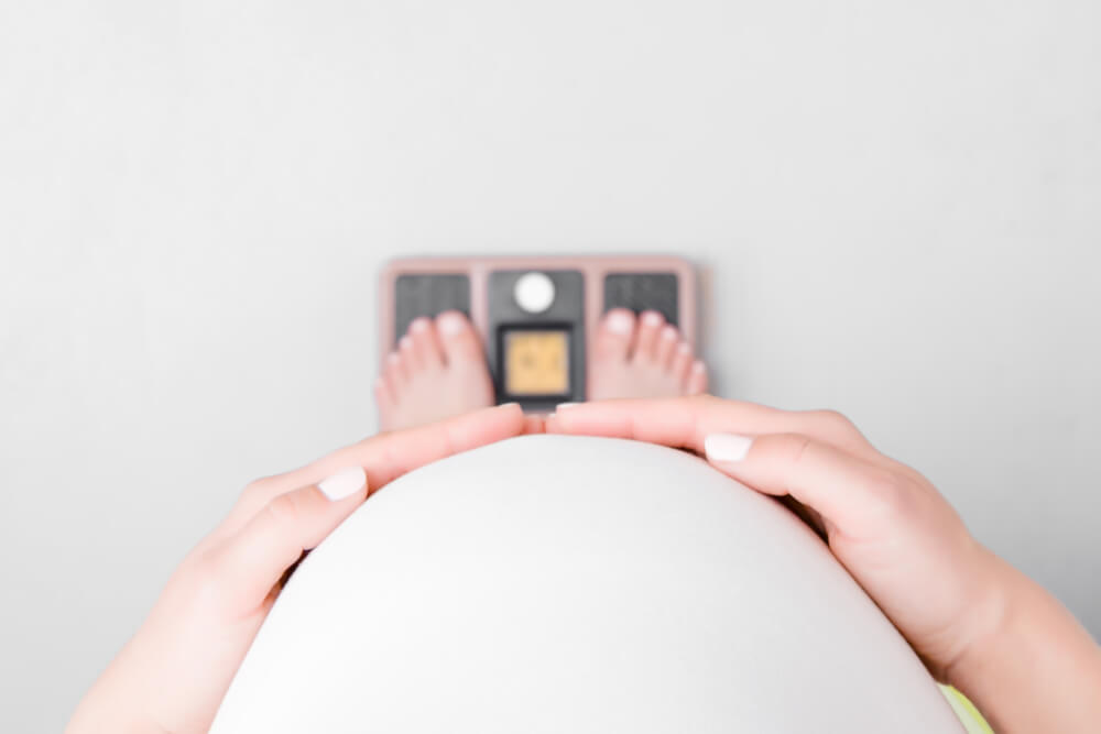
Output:
<path fill-rule="evenodd" d="M 696 348 L 696 274 L 682 258 L 408 258 L 382 272 L 379 354 L 418 316 L 457 310 L 481 337 L 498 404 L 586 399 L 586 354 L 612 308 L 654 310 Z"/>

